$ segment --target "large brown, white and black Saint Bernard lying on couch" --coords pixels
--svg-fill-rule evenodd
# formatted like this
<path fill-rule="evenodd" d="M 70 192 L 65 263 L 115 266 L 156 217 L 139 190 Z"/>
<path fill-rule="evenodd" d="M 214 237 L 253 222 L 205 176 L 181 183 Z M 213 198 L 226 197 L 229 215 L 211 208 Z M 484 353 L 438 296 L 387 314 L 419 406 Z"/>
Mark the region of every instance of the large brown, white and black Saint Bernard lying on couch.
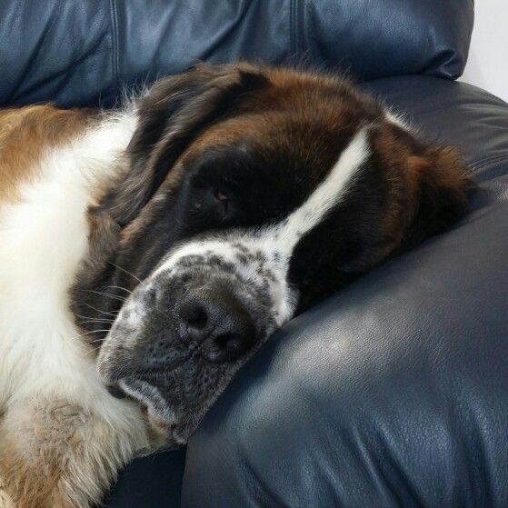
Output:
<path fill-rule="evenodd" d="M 183 445 L 295 314 L 472 184 L 343 77 L 196 65 L 118 111 L 0 111 L 0 500 L 88 507 Z"/>

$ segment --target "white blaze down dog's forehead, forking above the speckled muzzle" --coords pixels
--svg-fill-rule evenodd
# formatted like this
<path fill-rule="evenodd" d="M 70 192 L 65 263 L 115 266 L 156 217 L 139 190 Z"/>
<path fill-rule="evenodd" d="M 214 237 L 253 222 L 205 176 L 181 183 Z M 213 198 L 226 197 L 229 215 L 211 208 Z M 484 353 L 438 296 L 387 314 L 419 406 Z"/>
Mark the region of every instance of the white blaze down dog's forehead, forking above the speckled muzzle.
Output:
<path fill-rule="evenodd" d="M 370 153 L 368 126 L 364 126 L 354 134 L 324 181 L 304 204 L 283 221 L 262 229 L 236 230 L 214 238 L 188 242 L 169 254 L 155 269 L 152 277 L 178 270 L 178 262 L 190 255 L 214 254 L 226 262 L 237 264 L 238 245 L 241 245 L 244 252 L 263 254 L 264 268 L 274 275 L 271 285 L 275 321 L 279 325 L 284 324 L 294 313 L 294 292 L 287 281 L 287 269 L 294 247 L 344 199 Z M 238 272 L 253 282 L 256 277 L 262 276 L 256 271 L 255 259 L 254 256 L 252 266 L 238 265 Z"/>

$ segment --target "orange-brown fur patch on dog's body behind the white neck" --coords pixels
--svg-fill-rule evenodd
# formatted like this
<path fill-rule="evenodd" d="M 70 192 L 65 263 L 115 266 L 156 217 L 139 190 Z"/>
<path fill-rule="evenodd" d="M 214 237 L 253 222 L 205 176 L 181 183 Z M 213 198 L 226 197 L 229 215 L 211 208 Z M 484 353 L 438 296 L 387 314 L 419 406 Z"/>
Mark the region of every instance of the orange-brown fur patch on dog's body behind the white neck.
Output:
<path fill-rule="evenodd" d="M 37 178 L 45 149 L 72 139 L 94 115 L 53 105 L 0 110 L 0 203 L 14 202 L 19 185 Z"/>

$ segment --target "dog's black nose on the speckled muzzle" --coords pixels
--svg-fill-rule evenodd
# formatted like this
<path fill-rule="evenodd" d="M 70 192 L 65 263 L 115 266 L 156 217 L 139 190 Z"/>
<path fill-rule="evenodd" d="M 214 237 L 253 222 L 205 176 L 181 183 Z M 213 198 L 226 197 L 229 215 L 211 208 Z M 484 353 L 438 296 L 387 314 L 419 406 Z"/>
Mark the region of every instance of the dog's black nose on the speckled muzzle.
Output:
<path fill-rule="evenodd" d="M 214 364 L 234 362 L 254 344 L 250 314 L 224 288 L 189 291 L 178 306 L 181 336 L 199 344 L 201 355 Z"/>

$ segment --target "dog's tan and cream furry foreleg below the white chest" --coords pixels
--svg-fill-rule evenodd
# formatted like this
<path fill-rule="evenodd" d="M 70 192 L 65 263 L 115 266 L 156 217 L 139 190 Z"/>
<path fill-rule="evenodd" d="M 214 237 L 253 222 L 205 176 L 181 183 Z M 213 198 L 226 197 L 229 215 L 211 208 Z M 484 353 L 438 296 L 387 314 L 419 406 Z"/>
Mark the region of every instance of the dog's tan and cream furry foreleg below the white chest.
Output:
<path fill-rule="evenodd" d="M 148 445 L 132 414 L 131 407 L 106 421 L 75 403 L 47 399 L 10 408 L 0 427 L 0 507 L 11 508 L 7 495 L 15 508 L 100 503 L 118 468 Z"/>

